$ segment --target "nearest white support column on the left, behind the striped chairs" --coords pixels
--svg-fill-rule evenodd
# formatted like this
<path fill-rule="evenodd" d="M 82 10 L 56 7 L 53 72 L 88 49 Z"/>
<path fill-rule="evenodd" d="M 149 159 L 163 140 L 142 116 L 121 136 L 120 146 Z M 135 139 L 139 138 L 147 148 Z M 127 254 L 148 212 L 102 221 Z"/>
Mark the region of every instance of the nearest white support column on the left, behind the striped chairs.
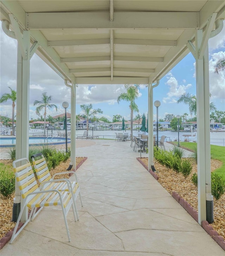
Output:
<path fill-rule="evenodd" d="M 30 52 L 30 32 L 23 32 L 23 48 Z M 30 58 L 23 58 L 18 43 L 17 56 L 17 134 L 15 144 L 15 157 L 28 158 L 29 151 L 29 102 L 30 102 Z M 16 183 L 14 203 L 20 202 L 20 191 Z M 21 200 L 22 206 L 23 200 Z M 21 221 L 26 221 L 27 211 L 23 213 Z"/>

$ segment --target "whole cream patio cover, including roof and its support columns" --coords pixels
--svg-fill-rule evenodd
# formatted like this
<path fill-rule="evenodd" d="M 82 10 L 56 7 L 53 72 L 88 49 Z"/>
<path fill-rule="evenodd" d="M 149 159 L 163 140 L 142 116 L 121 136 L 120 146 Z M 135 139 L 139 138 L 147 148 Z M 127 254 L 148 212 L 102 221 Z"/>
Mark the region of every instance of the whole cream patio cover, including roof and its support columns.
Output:
<path fill-rule="evenodd" d="M 153 88 L 192 52 L 197 63 L 201 224 L 206 218 L 206 194 L 211 193 L 207 42 L 215 29 L 214 21 L 225 19 L 225 1 L 2 0 L 0 7 L 1 21 L 9 24 L 18 40 L 17 159 L 28 156 L 29 75 L 34 52 L 71 88 L 74 135 L 77 84 L 146 84 L 151 114 Z M 151 135 L 153 120 L 148 120 Z M 75 161 L 75 139 L 71 148 Z"/>

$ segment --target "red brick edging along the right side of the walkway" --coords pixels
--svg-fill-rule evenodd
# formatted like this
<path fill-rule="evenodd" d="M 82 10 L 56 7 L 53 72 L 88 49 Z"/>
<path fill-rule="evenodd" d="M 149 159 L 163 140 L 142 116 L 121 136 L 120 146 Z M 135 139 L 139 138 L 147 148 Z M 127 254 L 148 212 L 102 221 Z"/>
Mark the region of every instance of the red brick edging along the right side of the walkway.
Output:
<path fill-rule="evenodd" d="M 148 170 L 148 166 L 141 161 L 141 158 L 137 157 L 137 161 L 139 161 L 143 165 L 143 167 Z M 156 180 L 159 179 L 159 176 L 156 175 L 154 171 L 152 171 L 151 169 L 148 171 Z M 181 198 L 181 196 L 175 191 L 172 192 L 172 196 L 176 201 L 179 202 L 181 206 L 185 208 L 185 210 L 193 217 L 193 219 L 198 222 L 198 212 L 186 200 L 184 200 L 184 198 Z M 225 250 L 224 238 L 220 236 L 216 230 L 213 229 L 208 221 L 204 220 L 201 224 L 203 229 L 219 244 L 222 249 Z"/>

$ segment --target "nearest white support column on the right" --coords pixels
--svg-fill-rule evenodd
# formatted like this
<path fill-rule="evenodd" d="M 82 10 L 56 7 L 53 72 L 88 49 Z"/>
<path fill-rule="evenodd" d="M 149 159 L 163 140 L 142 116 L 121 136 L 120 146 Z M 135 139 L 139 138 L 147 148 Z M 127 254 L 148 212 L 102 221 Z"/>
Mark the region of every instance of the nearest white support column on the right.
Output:
<path fill-rule="evenodd" d="M 197 154 L 198 154 L 198 223 L 206 220 L 206 125 L 205 125 L 205 90 L 204 90 L 204 65 L 203 59 L 198 58 L 197 52 L 203 40 L 203 31 L 197 30 L 195 34 L 195 60 L 196 60 L 196 98 L 197 98 Z M 209 95 L 208 95 L 209 97 Z M 208 104 L 209 108 L 209 104 Z M 209 131 L 208 131 L 209 132 Z M 209 170 L 210 171 L 210 170 Z"/>

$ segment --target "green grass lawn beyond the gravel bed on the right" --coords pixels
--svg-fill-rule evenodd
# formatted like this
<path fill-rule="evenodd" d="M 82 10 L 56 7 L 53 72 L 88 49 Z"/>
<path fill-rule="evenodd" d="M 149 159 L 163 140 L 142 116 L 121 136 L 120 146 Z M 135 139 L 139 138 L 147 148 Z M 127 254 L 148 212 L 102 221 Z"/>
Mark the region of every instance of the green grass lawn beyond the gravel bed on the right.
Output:
<path fill-rule="evenodd" d="M 173 144 L 177 145 L 177 142 Z M 180 146 L 184 148 L 188 148 L 193 152 L 197 148 L 197 143 L 195 142 L 180 142 Z M 217 159 L 222 162 L 222 166 L 215 170 L 215 173 L 223 176 L 225 178 L 225 147 L 224 146 L 216 146 L 211 145 L 211 159 Z"/>

